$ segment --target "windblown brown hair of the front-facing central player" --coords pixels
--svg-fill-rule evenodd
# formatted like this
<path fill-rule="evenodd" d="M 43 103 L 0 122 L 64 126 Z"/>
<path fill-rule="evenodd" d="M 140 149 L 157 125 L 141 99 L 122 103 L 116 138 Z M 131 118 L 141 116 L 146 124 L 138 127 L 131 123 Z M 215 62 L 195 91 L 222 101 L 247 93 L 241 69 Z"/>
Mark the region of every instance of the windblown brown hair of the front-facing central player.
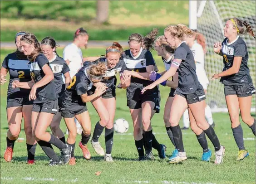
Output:
<path fill-rule="evenodd" d="M 158 28 L 152 29 L 152 31 L 148 33 L 145 37 L 143 37 L 143 35 L 139 33 L 133 33 L 128 38 L 128 44 L 134 41 L 138 44 L 141 44 L 144 49 L 151 50 L 151 49 L 154 49 L 153 44 L 158 34 L 159 34 Z"/>

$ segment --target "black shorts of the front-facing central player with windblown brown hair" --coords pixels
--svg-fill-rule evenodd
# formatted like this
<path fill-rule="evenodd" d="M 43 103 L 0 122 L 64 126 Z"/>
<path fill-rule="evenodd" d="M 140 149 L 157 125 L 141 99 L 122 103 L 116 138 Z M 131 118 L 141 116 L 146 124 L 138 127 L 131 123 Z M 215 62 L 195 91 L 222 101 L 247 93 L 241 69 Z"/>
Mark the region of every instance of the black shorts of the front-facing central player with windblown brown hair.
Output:
<path fill-rule="evenodd" d="M 141 96 L 142 99 L 135 101 L 133 99 L 127 99 L 127 106 L 130 109 L 140 109 L 141 105 L 144 102 L 150 101 L 150 102 L 154 102 L 155 103 L 155 107 L 154 110 L 156 111 L 156 113 L 160 112 L 160 99 L 159 99 L 159 95 L 158 92 L 153 92 L 153 94 L 151 95 L 145 95 L 145 96 Z"/>

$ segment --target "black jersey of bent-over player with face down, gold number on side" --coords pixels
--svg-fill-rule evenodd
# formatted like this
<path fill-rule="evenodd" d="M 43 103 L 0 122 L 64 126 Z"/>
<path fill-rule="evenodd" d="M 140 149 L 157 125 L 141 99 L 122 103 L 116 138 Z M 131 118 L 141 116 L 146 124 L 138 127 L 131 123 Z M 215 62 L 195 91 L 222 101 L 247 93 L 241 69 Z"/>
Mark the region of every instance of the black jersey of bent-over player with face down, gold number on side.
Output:
<path fill-rule="evenodd" d="M 78 103 L 79 105 L 86 104 L 82 101 L 80 95 L 86 94 L 93 86 L 93 82 L 91 82 L 87 76 L 86 69 L 86 67 L 82 67 L 79 72 L 74 75 L 69 82 L 69 86 L 61 96 L 61 100 L 68 101 L 69 103 Z"/>

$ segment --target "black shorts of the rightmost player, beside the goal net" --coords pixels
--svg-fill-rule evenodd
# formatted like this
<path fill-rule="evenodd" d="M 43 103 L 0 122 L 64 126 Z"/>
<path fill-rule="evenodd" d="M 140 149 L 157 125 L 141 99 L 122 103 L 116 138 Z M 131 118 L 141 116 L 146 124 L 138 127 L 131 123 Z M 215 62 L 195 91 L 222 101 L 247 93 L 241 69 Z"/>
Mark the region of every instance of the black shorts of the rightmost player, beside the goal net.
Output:
<path fill-rule="evenodd" d="M 249 97 L 255 94 L 255 87 L 253 83 L 234 86 L 234 85 L 224 85 L 225 97 L 228 95 L 236 95 L 237 97 Z"/>

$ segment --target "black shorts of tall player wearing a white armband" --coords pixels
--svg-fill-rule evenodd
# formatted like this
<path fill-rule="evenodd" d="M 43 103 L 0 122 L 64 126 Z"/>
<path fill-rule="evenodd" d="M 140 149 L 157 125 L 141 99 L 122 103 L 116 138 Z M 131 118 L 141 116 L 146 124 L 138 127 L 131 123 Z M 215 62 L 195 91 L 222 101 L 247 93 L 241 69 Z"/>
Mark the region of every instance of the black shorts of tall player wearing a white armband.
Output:
<path fill-rule="evenodd" d="M 179 95 L 179 96 L 186 98 L 187 104 L 201 102 L 206 99 L 205 92 L 204 92 L 202 85 L 200 85 L 200 87 L 195 92 L 193 92 L 191 94 L 183 94 L 176 90 L 174 95 Z"/>

